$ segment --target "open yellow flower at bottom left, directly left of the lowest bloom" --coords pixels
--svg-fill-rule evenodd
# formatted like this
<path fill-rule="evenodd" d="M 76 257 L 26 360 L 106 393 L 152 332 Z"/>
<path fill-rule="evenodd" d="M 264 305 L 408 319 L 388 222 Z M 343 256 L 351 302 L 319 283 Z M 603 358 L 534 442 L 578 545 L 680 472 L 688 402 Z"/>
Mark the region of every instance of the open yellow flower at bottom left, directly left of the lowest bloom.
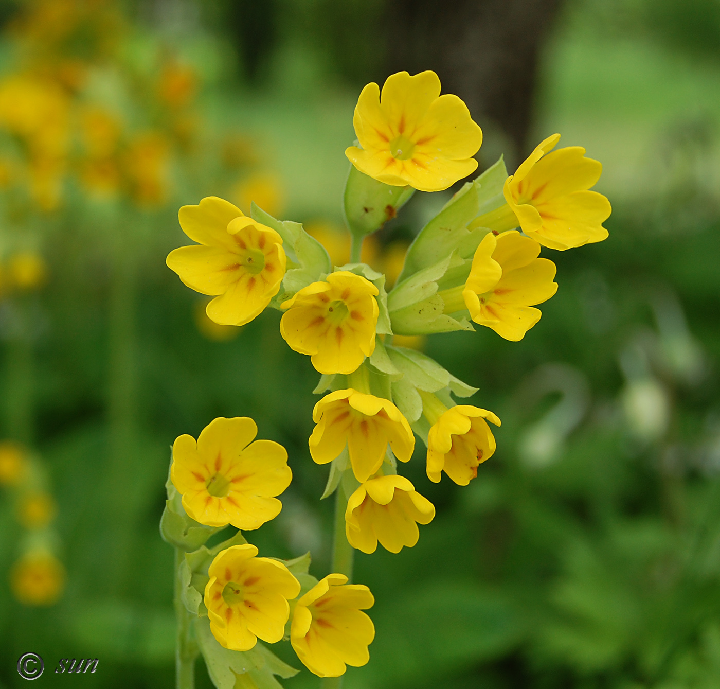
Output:
<path fill-rule="evenodd" d="M 258 637 L 280 641 L 290 614 L 288 600 L 300 593 L 300 582 L 277 560 L 256 557 L 246 543 L 231 546 L 212 561 L 205 586 L 210 631 L 221 646 L 249 651 Z"/>

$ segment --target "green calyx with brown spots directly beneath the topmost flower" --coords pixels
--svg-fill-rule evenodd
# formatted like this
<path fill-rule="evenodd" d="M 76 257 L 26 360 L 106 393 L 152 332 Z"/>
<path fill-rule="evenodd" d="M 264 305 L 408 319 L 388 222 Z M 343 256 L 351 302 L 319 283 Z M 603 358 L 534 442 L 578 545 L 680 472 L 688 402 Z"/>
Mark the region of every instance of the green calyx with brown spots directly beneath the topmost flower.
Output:
<path fill-rule="evenodd" d="M 351 165 L 343 197 L 348 228 L 358 236 L 372 234 L 395 218 L 414 193 L 413 187 L 386 185 Z"/>

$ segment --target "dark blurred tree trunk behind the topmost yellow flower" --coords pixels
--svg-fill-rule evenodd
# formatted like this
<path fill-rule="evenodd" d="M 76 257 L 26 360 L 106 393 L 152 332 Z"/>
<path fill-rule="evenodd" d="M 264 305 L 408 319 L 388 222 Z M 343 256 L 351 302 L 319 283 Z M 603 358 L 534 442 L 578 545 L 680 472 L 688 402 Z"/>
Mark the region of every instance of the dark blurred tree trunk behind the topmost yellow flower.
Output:
<path fill-rule="evenodd" d="M 512 171 L 533 148 L 528 133 L 539 53 L 560 2 L 390 0 L 390 73 L 436 71 L 443 92 L 461 97 L 485 130 L 487 154 L 500 148 L 498 135 L 505 139 L 505 159 Z M 495 141 L 488 141 L 493 135 Z M 482 166 L 492 162 L 482 156 Z"/>

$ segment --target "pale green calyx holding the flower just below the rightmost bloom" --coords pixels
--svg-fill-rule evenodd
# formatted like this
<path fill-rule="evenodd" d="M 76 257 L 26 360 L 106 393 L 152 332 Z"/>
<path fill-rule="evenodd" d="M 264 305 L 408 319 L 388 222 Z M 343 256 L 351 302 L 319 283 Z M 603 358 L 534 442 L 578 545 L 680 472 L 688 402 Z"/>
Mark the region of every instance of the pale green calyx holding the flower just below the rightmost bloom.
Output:
<path fill-rule="evenodd" d="M 438 281 L 442 280 L 449 270 L 464 265 L 464 259 L 452 252 L 396 285 L 387 297 L 393 331 L 400 335 L 474 331 L 464 316 L 456 319 L 444 314 L 445 303 L 438 296 Z"/>

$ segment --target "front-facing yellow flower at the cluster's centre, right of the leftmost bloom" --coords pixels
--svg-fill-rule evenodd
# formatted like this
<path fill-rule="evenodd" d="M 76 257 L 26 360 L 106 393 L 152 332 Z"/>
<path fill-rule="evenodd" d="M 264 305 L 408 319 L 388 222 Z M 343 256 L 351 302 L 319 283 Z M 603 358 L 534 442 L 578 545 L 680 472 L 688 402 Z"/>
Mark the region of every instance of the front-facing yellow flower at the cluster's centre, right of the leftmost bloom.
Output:
<path fill-rule="evenodd" d="M 280 334 L 320 373 L 352 373 L 375 350 L 378 293 L 361 275 L 330 273 L 282 304 Z"/>

